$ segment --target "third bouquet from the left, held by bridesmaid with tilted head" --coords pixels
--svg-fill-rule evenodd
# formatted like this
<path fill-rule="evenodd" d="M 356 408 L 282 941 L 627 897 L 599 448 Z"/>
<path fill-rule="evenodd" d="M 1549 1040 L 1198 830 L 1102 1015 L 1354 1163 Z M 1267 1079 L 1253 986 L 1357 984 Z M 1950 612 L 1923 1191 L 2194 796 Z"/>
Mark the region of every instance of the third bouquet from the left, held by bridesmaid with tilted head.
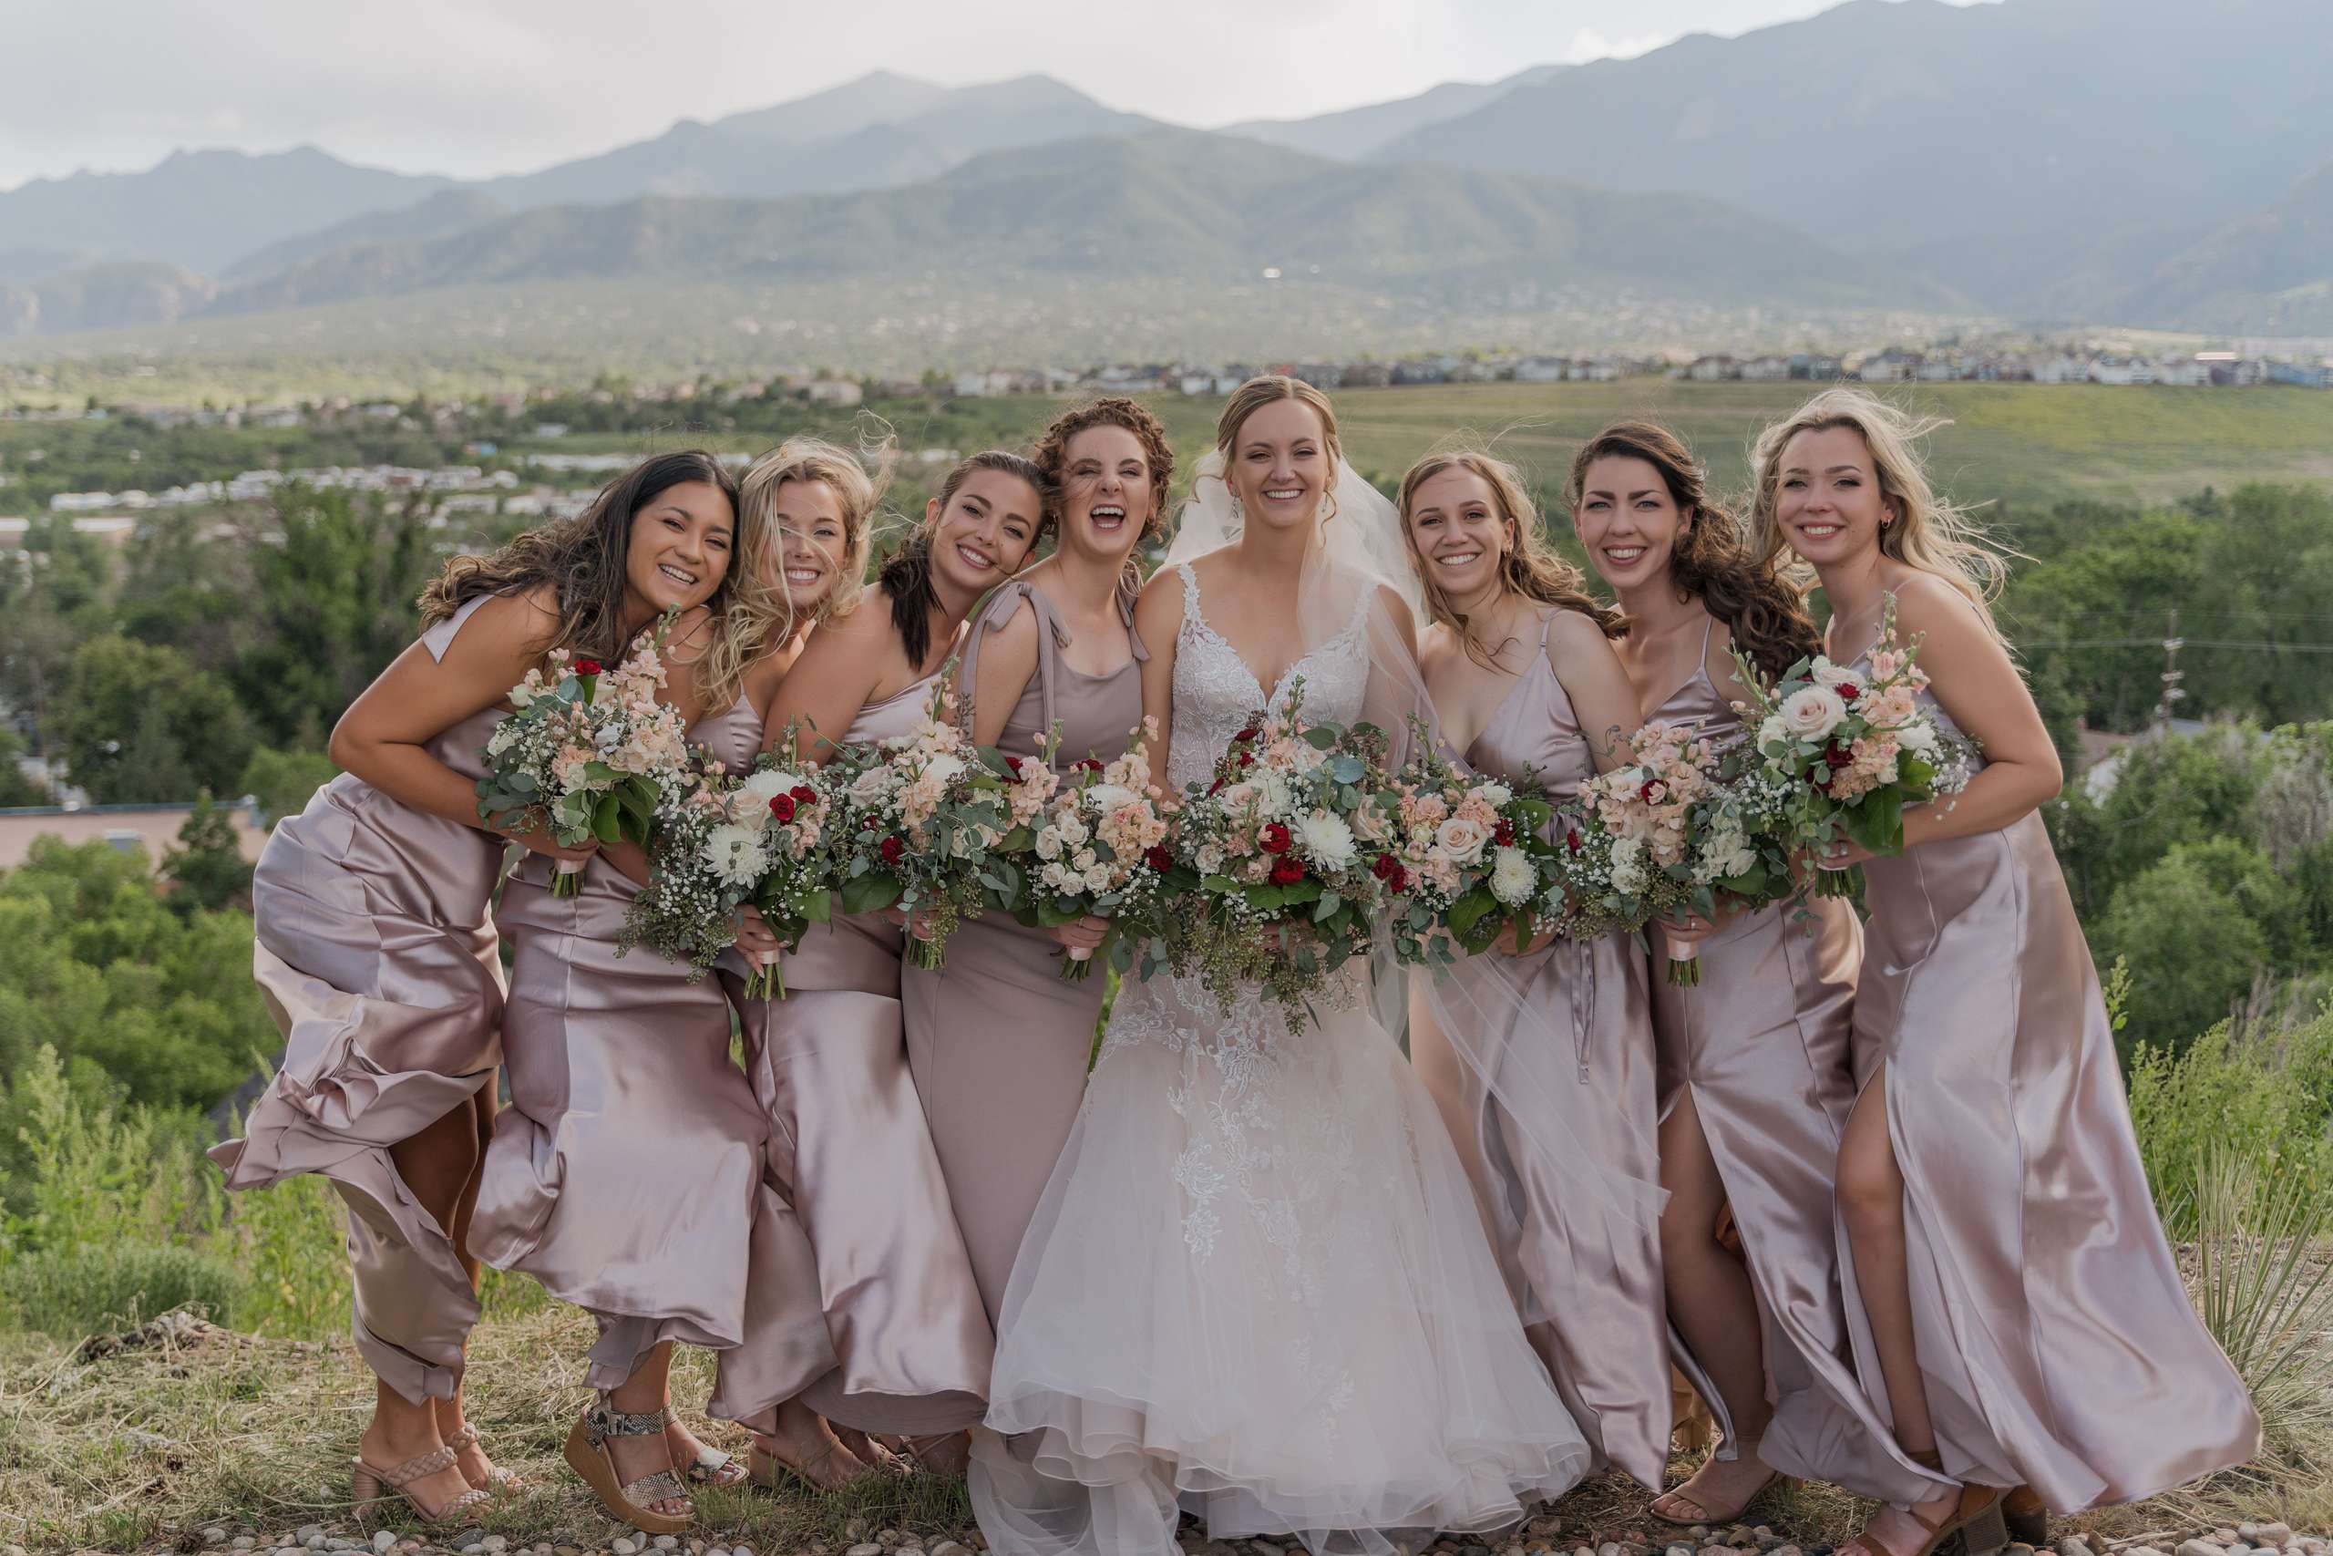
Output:
<path fill-rule="evenodd" d="M 915 730 L 845 744 L 826 770 L 835 905 L 903 910 L 908 961 L 924 970 L 947 963 L 957 924 L 1003 889 L 996 865 L 1017 842 L 1006 781 L 957 728 L 954 700 L 943 674 Z"/>

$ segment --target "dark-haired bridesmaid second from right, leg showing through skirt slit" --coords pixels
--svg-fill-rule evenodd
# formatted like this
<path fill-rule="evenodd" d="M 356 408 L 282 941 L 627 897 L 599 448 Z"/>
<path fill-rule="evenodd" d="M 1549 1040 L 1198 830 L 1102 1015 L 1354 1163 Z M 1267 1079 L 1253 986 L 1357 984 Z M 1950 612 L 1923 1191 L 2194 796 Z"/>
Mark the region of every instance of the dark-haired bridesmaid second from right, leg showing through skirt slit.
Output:
<path fill-rule="evenodd" d="M 1619 422 L 1572 460 L 1589 565 L 1628 618 L 1619 663 L 1645 723 L 1738 744 L 1729 649 L 1768 679 L 1822 649 L 1799 595 L 1750 560 L 1666 427 Z M 1848 1029 L 1864 935 L 1836 898 L 1719 914 L 1703 982 L 1659 980 L 1661 1276 L 1687 1369 L 1724 1425 L 1698 1472 L 1652 1502 L 1670 1523 L 1731 1523 L 1773 1467 L 1871 1479 L 1890 1458 L 1848 1362 L 1831 1173 L 1855 1101 Z M 1731 1206 L 1740 1250 L 1719 1243 Z M 1817 1381 L 1820 1379 L 1820 1381 Z M 1771 1400 L 1782 1418 L 1768 1430 Z M 1766 1451 L 1761 1453 L 1761 1442 Z"/>

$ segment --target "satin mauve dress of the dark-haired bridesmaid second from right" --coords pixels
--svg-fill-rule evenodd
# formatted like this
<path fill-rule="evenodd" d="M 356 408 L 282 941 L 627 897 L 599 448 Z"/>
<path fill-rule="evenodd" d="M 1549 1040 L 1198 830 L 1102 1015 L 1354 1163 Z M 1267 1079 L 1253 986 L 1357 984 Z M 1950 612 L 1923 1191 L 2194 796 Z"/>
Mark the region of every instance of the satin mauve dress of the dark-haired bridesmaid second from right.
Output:
<path fill-rule="evenodd" d="M 1708 639 L 1694 679 L 1645 723 L 1684 726 L 1722 749 L 1743 730 L 1705 665 Z M 1855 1103 L 1848 1047 L 1862 959 L 1862 921 L 1845 900 L 1745 912 L 1701 942 L 1698 987 L 1654 980 L 1652 1031 L 1661 1117 L 1691 1096 L 1757 1292 L 1775 1407 L 1759 1458 L 1785 1474 L 1911 1502 L 1941 1488 L 1897 1451 L 1857 1383 L 1838 1292 L 1834 1183 L 1838 1134 Z M 1677 1365 L 1724 1428 L 1719 1456 L 1736 1458 L 1724 1400 L 1698 1358 L 1675 1344 Z"/>

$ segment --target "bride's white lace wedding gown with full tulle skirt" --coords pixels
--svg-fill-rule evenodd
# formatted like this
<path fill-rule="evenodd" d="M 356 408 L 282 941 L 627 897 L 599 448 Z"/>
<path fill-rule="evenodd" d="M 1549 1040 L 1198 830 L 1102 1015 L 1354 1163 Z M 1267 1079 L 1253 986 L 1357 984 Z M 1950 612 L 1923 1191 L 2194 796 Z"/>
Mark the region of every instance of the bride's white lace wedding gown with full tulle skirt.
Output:
<path fill-rule="evenodd" d="M 1264 705 L 1187 567 L 1183 607 L 1176 786 Z M 1269 705 L 1302 677 L 1304 712 L 1348 723 L 1367 674 L 1355 616 Z M 973 1507 L 1001 1556 L 1171 1556 L 1178 1509 L 1388 1551 L 1512 1523 L 1589 1460 L 1367 1001 L 1290 1031 L 1164 975 L 1118 994 L 1006 1288 L 987 1428 Z"/>

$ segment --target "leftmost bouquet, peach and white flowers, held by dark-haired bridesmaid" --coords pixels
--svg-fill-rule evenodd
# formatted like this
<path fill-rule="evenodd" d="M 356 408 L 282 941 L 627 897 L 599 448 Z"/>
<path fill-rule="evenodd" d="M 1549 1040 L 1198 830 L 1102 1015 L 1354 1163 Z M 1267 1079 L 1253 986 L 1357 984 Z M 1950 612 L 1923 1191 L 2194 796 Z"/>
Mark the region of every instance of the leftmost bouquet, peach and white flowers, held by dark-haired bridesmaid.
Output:
<path fill-rule="evenodd" d="M 600 660 L 548 656 L 511 688 L 518 709 L 485 742 L 478 816 L 544 828 L 560 847 L 646 842 L 658 798 L 688 775 L 688 726 L 656 698 L 665 630 L 614 672 Z M 583 889 L 583 863 L 562 858 L 551 896 Z"/>

